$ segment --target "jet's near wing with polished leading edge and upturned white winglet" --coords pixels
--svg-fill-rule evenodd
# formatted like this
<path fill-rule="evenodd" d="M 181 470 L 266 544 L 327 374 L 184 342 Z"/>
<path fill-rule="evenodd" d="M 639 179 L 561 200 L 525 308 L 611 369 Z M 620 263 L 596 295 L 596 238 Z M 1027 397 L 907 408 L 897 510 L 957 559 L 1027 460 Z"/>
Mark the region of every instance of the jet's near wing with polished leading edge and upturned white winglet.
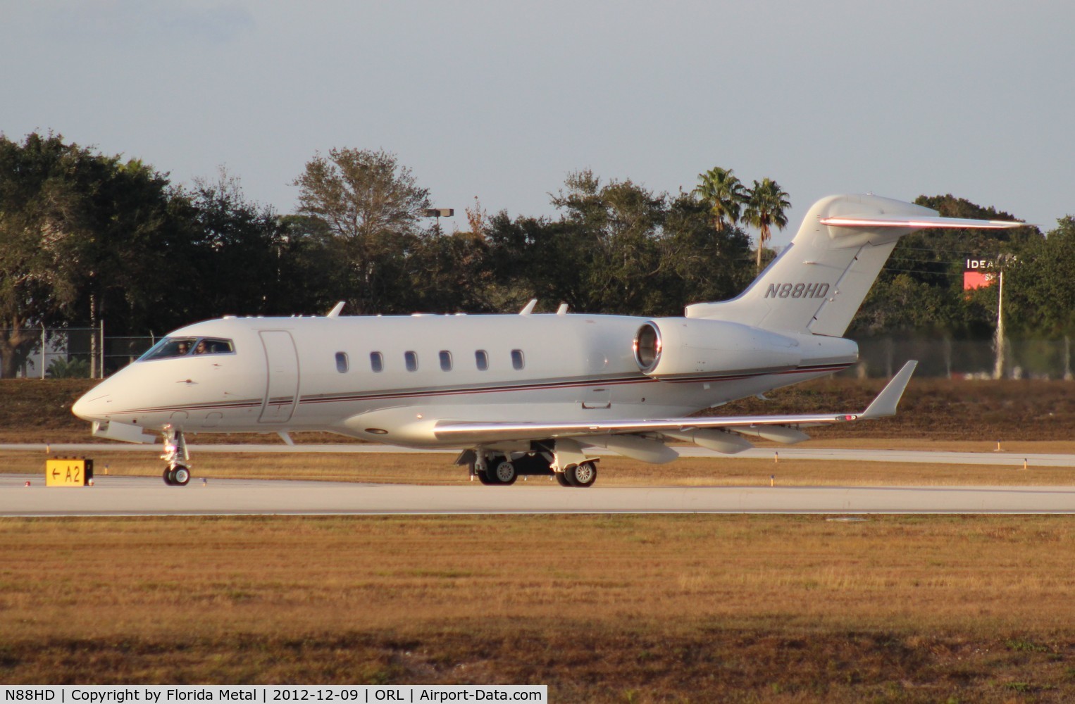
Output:
<path fill-rule="evenodd" d="M 700 418 L 622 419 L 575 422 L 518 422 L 465 420 L 442 420 L 433 433 L 438 440 L 459 443 L 487 443 L 506 440 L 545 440 L 551 437 L 607 436 L 637 433 L 661 433 L 671 436 L 690 436 L 697 431 L 732 430 L 750 435 L 760 435 L 779 442 L 799 442 L 806 435 L 796 428 L 823 426 L 829 423 L 868 420 L 895 415 L 897 405 L 903 396 L 917 361 L 909 361 L 882 389 L 877 398 L 857 413 L 818 413 L 811 415 L 784 416 L 708 416 Z M 584 441 L 585 442 L 585 441 Z"/>

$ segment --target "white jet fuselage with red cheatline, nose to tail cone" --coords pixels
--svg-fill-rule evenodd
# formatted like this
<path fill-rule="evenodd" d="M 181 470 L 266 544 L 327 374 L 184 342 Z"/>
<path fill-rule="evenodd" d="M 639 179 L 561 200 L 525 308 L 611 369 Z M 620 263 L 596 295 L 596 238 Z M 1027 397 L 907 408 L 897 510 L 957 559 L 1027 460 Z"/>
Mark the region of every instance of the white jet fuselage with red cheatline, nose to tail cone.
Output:
<path fill-rule="evenodd" d="M 682 416 L 832 373 L 854 342 L 705 326 L 663 354 L 673 373 L 646 374 L 633 348 L 650 319 L 605 315 L 226 317 L 168 336 L 81 399 L 100 423 L 187 433 L 330 431 L 438 446 L 445 420 L 594 421 Z M 209 341 L 217 349 L 199 354 Z M 215 341 L 215 342 L 214 342 Z M 225 344 L 227 343 L 227 344 Z M 158 346 L 159 347 L 159 346 Z M 204 347 L 204 345 L 203 345 Z M 157 348 L 155 348 L 157 349 Z"/>

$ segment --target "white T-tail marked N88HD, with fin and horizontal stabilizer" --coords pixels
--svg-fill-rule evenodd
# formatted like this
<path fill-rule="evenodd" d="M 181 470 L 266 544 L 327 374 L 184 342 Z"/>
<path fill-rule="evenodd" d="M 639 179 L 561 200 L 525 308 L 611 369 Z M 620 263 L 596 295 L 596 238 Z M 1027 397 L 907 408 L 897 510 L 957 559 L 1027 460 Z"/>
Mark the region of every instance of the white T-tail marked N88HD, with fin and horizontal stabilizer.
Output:
<path fill-rule="evenodd" d="M 923 228 L 1013 228 L 1023 222 L 937 217 L 877 196 L 830 196 L 814 203 L 780 256 L 736 298 L 688 305 L 688 318 L 766 330 L 842 336 L 897 241 Z"/>

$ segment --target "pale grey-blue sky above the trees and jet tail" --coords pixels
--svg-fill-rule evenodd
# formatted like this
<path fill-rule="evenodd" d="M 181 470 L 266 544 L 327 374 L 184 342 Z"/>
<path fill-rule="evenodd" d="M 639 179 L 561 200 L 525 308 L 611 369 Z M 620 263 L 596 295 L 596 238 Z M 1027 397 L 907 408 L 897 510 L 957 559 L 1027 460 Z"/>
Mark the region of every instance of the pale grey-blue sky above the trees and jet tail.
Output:
<path fill-rule="evenodd" d="M 840 192 L 1047 230 L 1075 214 L 1073 26 L 1069 0 L 0 0 L 0 132 L 224 167 L 280 213 L 354 147 L 462 229 L 475 196 L 555 216 L 582 169 L 676 193 L 719 166 L 790 195 L 774 244 Z"/>

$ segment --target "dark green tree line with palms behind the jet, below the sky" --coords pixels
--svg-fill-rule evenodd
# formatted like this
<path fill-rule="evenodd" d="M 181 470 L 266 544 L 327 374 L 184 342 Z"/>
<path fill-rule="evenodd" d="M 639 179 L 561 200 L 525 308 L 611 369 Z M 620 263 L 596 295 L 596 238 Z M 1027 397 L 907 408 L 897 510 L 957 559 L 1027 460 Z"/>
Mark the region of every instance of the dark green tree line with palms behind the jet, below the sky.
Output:
<path fill-rule="evenodd" d="M 548 310 L 680 315 L 739 293 L 773 256 L 765 242 L 790 207 L 775 181 L 747 187 L 719 167 L 677 193 L 582 170 L 549 195 L 556 216 L 490 215 L 475 198 L 447 232 L 426 216 L 429 190 L 410 169 L 357 148 L 315 155 L 293 186 L 298 206 L 280 214 L 223 170 L 176 185 L 59 134 L 0 134 L 0 375 L 14 375 L 42 327 L 101 319 L 116 334 L 159 335 L 225 314 L 324 314 L 336 301 L 362 315 L 510 312 L 531 298 Z M 1007 217 L 951 196 L 917 202 Z M 995 294 L 961 290 L 972 253 L 1009 256 L 1005 310 L 1020 332 L 1075 326 L 1069 217 L 1047 238 L 1035 228 L 904 238 L 852 333 L 988 337 Z"/>

